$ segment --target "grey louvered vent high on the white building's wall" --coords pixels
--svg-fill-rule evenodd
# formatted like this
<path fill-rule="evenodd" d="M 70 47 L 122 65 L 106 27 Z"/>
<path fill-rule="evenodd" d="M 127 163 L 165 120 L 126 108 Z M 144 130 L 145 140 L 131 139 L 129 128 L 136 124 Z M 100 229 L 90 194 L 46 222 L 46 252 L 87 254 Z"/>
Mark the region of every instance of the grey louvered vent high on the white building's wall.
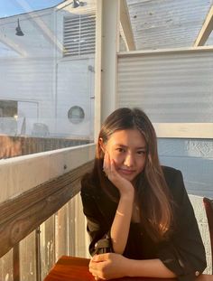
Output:
<path fill-rule="evenodd" d="M 64 18 L 64 56 L 95 53 L 95 14 L 75 14 Z"/>

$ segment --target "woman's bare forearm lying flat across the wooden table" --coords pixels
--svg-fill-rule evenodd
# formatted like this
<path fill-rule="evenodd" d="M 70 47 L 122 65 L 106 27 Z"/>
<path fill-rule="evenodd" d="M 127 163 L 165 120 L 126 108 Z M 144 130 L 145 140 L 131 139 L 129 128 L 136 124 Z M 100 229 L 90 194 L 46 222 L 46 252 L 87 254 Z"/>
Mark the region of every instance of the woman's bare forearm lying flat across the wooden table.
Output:
<path fill-rule="evenodd" d="M 175 278 L 176 275 L 164 264 L 161 259 L 135 260 L 126 258 L 127 276 L 145 276 L 158 278 Z"/>

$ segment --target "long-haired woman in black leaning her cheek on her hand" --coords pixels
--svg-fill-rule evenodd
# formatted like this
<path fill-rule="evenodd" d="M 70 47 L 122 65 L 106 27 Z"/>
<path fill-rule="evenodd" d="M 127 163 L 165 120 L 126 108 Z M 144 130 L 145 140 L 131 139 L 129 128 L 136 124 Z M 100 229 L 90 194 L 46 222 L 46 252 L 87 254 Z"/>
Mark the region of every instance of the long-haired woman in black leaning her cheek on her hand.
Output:
<path fill-rule="evenodd" d="M 93 256 L 89 271 L 96 280 L 190 281 L 205 269 L 205 249 L 181 172 L 160 165 L 153 125 L 139 108 L 119 108 L 106 118 L 81 198 Z M 106 235 L 112 253 L 98 254 Z"/>

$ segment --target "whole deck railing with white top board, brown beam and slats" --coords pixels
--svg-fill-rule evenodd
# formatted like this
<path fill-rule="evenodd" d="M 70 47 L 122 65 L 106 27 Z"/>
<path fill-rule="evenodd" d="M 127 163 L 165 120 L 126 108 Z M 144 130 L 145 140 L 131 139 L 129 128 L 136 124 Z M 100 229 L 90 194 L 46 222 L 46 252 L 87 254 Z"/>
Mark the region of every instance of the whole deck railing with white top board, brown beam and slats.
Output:
<path fill-rule="evenodd" d="M 61 255 L 87 257 L 88 237 L 79 189 L 82 175 L 91 169 L 92 155 L 93 145 L 82 145 L 58 152 L 2 160 L 1 178 L 6 173 L 8 176 L 8 167 L 13 170 L 14 162 L 16 171 L 14 169 L 14 174 L 9 173 L 11 179 L 7 178 L 1 184 L 0 280 L 40 281 Z M 33 158 L 38 170 L 41 170 L 40 164 L 42 169 L 49 170 L 49 180 L 35 171 L 28 173 L 27 166 L 32 164 Z M 21 169 L 22 165 L 25 171 Z M 18 171 L 23 174 L 16 173 Z M 54 176 L 54 173 L 58 174 Z M 36 174 L 43 183 L 31 186 L 38 183 L 38 179 L 33 181 Z M 31 182 L 26 184 L 28 188 L 24 192 L 15 191 L 15 187 L 21 186 L 20 183 L 26 183 L 27 177 Z M 14 190 L 8 191 L 6 199 L 2 193 L 6 188 L 11 189 L 12 183 Z"/>

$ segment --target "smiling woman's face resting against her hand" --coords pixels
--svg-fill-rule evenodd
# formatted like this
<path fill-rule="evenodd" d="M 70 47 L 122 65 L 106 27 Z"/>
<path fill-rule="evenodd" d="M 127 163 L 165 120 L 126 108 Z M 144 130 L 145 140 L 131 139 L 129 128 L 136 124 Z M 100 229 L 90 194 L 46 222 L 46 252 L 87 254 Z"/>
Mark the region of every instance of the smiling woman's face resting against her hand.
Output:
<path fill-rule="evenodd" d="M 110 159 L 115 161 L 116 171 L 126 180 L 134 181 L 144 170 L 146 144 L 137 129 L 116 131 L 103 146 Z"/>

